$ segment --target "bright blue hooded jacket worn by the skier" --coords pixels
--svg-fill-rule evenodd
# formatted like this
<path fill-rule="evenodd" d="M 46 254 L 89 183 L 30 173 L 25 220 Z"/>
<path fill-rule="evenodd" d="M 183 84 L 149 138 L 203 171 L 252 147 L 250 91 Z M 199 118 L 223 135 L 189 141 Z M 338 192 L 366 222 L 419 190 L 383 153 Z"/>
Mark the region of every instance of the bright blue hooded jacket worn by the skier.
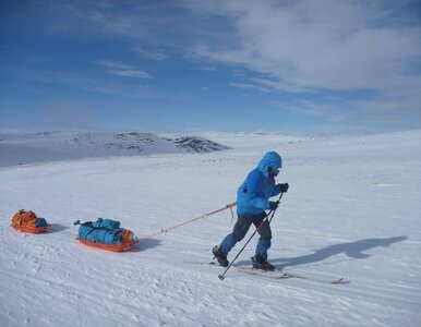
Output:
<path fill-rule="evenodd" d="M 269 167 L 282 167 L 282 159 L 275 152 L 267 153 L 238 187 L 237 214 L 261 215 L 269 208 L 269 197 L 280 193 L 280 187 L 275 185 L 275 179 L 269 177 Z"/>

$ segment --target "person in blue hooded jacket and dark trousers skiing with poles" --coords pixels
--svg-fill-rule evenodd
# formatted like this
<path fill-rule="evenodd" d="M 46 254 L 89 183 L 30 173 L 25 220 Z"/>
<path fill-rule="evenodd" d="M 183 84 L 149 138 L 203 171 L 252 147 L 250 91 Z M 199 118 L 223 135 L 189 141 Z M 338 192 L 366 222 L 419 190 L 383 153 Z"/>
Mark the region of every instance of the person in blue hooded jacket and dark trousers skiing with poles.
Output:
<path fill-rule="evenodd" d="M 246 177 L 237 190 L 238 219 L 231 233 L 222 240 L 220 245 L 215 245 L 213 253 L 219 265 L 227 267 L 227 255 L 237 242 L 241 241 L 253 223 L 256 228 L 266 217 L 265 210 L 275 210 L 277 202 L 268 201 L 269 197 L 288 191 L 288 183 L 275 184 L 275 177 L 282 167 L 282 159 L 276 152 L 267 153 Z M 264 270 L 274 270 L 275 266 L 267 262 L 267 250 L 270 247 L 272 231 L 267 220 L 258 230 L 260 239 L 255 255 L 252 257 L 253 267 Z"/>

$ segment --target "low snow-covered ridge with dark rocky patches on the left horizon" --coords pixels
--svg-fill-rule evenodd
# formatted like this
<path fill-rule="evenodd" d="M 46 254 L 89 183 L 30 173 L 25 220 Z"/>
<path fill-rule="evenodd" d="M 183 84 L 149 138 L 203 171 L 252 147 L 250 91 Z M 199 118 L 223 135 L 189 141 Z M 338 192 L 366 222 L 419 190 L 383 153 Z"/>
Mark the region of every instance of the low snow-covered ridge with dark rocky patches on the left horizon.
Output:
<path fill-rule="evenodd" d="M 141 132 L 0 134 L 0 167 L 95 157 L 211 153 L 228 148 L 199 136 L 168 137 Z"/>

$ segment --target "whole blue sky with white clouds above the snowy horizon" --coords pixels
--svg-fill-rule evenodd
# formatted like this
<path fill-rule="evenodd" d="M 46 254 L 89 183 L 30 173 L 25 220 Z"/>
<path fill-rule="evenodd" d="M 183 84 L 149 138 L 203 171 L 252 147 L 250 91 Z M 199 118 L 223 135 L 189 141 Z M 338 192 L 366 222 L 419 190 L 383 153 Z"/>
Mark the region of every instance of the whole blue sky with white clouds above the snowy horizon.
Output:
<path fill-rule="evenodd" d="M 0 131 L 421 129 L 419 1 L 0 2 Z"/>

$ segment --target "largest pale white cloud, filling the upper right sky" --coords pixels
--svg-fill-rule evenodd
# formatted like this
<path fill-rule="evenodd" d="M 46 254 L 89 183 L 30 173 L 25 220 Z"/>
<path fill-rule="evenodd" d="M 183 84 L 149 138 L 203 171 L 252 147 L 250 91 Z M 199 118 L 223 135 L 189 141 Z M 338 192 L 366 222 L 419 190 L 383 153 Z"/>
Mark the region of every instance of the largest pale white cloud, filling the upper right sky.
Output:
<path fill-rule="evenodd" d="M 421 76 L 413 73 L 412 65 L 421 58 L 420 23 L 398 24 L 394 8 L 373 3 L 202 2 L 194 9 L 231 20 L 238 43 L 202 43 L 195 53 L 262 73 L 267 76 L 261 80 L 266 86 L 280 90 L 387 92 L 399 87 L 396 77 L 408 78 L 409 87 L 418 87 Z"/>

